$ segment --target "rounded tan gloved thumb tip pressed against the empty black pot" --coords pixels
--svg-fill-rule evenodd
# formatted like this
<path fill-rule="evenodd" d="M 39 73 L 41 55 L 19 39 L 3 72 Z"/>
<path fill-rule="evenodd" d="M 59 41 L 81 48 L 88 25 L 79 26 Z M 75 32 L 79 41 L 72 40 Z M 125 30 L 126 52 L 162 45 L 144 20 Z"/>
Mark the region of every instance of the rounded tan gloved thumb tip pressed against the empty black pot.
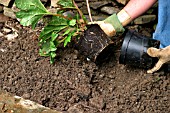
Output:
<path fill-rule="evenodd" d="M 151 57 L 160 57 L 161 49 L 150 47 L 148 48 L 147 53 Z"/>

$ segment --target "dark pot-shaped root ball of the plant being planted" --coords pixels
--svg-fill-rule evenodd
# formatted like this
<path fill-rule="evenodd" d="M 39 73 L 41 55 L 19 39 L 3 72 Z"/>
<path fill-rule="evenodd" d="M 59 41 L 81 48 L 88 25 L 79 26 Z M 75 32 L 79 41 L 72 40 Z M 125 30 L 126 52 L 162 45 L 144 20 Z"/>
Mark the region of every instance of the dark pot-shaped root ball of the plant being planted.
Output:
<path fill-rule="evenodd" d="M 99 25 L 87 26 L 84 35 L 76 45 L 79 53 L 95 63 L 106 61 L 113 51 L 113 41 L 103 32 Z"/>

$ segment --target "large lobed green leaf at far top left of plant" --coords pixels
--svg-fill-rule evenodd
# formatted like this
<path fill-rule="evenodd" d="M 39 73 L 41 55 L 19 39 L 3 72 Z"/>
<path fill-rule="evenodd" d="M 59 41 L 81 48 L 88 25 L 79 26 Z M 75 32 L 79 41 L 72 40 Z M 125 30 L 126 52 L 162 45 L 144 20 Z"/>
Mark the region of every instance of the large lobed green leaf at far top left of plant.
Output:
<path fill-rule="evenodd" d="M 49 14 L 40 0 L 15 0 L 15 4 L 20 9 L 16 16 L 21 19 L 20 23 L 23 26 L 32 25 L 32 28 L 35 28 L 37 22 Z"/>

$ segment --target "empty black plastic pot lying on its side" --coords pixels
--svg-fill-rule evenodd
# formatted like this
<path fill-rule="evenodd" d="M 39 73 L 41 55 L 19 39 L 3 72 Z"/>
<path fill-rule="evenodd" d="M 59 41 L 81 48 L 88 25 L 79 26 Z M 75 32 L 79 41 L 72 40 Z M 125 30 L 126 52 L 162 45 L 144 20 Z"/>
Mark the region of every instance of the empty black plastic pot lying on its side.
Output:
<path fill-rule="evenodd" d="M 151 68 L 157 58 L 147 54 L 149 47 L 159 48 L 160 42 L 140 35 L 135 31 L 126 31 L 119 57 L 120 64 L 129 64 L 141 68 Z"/>

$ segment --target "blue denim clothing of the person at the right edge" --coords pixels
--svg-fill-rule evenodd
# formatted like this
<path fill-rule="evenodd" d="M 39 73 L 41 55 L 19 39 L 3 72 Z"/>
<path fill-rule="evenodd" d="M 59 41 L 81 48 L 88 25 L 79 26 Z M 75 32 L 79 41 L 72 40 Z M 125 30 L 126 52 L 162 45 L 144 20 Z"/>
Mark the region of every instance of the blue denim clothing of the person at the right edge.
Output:
<path fill-rule="evenodd" d="M 170 0 L 158 1 L 158 24 L 153 38 L 160 41 L 160 48 L 170 45 Z"/>

